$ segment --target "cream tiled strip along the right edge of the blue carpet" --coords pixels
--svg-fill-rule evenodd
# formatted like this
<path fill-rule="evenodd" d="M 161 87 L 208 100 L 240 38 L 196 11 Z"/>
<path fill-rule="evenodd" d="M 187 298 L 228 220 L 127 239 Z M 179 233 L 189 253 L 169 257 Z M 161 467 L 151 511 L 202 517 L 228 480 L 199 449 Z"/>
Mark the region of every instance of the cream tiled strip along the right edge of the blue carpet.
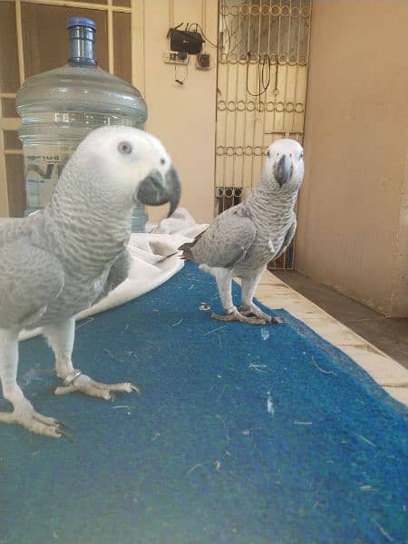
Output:
<path fill-rule="evenodd" d="M 282 276 L 282 273 L 280 272 L 277 274 Z M 284 274 L 287 274 L 287 272 Z M 298 281 L 300 281 L 300 278 L 298 278 Z M 345 298 L 345 300 L 342 300 L 341 304 L 343 305 L 342 317 L 347 317 L 347 324 L 342 323 L 335 316 L 329 315 L 328 312 L 320 306 L 322 305 L 321 300 L 316 300 L 319 304 L 319 306 L 317 306 L 308 298 L 309 296 L 312 296 L 310 293 L 307 294 L 308 297 L 306 298 L 306 296 L 301 295 L 294 288 L 285 283 L 285 281 L 282 281 L 281 278 L 268 271 L 263 274 L 261 281 L 259 282 L 256 296 L 267 306 L 271 308 L 285 308 L 293 316 L 304 321 L 306 325 L 315 330 L 318 335 L 321 335 L 325 340 L 342 349 L 347 355 L 354 359 L 357 364 L 360 364 L 364 370 L 370 374 L 378 384 L 382 385 L 395 399 L 408 404 L 408 372 L 406 368 L 390 355 L 386 355 L 384 351 L 377 348 L 373 343 L 364 339 L 362 335 L 359 335 L 352 330 L 352 322 L 356 323 L 359 319 L 353 319 L 355 314 L 352 312 L 351 307 L 347 305 L 346 301 L 348 299 L 346 297 L 342 297 Z M 333 313 L 333 307 L 327 309 L 330 309 Z M 359 309 L 364 313 L 364 310 L 367 308 L 362 306 Z M 371 310 L 368 311 L 371 312 Z M 340 306 L 337 306 L 338 317 L 340 317 L 339 312 Z M 361 317 L 362 315 L 363 314 L 359 314 L 358 317 Z M 368 316 L 368 314 L 365 313 L 364 316 Z M 370 315 L 370 317 L 373 316 Z M 367 317 L 363 317 L 363 319 L 364 318 Z M 368 319 L 373 321 L 373 319 Z M 381 324 L 377 323 L 376 326 L 381 327 Z M 392 343 L 391 341 L 389 342 Z M 403 351 L 403 341 L 401 344 L 401 350 Z"/>

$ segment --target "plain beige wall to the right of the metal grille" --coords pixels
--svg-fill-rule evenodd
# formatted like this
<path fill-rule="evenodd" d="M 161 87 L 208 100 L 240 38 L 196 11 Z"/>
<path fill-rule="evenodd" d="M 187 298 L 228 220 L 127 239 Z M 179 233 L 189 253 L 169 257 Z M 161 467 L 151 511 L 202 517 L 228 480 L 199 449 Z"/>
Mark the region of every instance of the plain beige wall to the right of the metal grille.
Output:
<path fill-rule="evenodd" d="M 406 316 L 404 0 L 314 0 L 296 268 Z"/>

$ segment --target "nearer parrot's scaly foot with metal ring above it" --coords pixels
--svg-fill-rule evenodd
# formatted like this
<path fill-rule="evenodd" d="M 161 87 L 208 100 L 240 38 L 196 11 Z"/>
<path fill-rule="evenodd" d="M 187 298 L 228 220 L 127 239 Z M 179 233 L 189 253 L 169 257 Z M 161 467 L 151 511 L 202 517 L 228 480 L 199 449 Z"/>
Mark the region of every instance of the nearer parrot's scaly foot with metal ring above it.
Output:
<path fill-rule="evenodd" d="M 68 394 L 74 391 L 105 399 L 106 401 L 113 399 L 116 392 L 131 393 L 135 391 L 136 393 L 140 393 L 139 387 L 129 382 L 125 382 L 124 384 L 100 384 L 99 382 L 94 382 L 89 376 L 76 369 L 65 377 L 63 385 L 57 387 L 54 393 Z"/>

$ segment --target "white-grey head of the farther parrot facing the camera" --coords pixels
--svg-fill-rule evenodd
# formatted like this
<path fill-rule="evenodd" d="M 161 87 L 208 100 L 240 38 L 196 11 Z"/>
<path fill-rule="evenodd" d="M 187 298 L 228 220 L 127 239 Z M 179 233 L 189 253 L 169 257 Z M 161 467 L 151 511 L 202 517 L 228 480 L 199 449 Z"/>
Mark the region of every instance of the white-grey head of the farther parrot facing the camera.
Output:
<path fill-rule="evenodd" d="M 283 138 L 274 141 L 268 147 L 264 176 L 271 180 L 277 189 L 299 189 L 304 172 L 303 148 L 298 141 Z"/>

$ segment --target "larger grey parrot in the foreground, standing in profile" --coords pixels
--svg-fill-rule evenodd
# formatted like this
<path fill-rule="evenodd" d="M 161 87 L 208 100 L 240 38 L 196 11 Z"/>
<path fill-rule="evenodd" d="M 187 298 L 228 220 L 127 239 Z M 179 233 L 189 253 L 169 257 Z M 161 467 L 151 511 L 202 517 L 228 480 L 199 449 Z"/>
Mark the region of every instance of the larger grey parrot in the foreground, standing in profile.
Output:
<path fill-rule="evenodd" d="M 180 181 L 168 153 L 151 134 L 133 128 L 92 131 L 67 162 L 43 211 L 0 222 L 0 379 L 13 412 L 0 422 L 60 437 L 62 423 L 34 410 L 18 386 L 18 333 L 42 326 L 63 384 L 110 399 L 129 383 L 99 384 L 73 368 L 74 316 L 128 275 L 131 211 L 137 201 L 180 200 Z"/>

